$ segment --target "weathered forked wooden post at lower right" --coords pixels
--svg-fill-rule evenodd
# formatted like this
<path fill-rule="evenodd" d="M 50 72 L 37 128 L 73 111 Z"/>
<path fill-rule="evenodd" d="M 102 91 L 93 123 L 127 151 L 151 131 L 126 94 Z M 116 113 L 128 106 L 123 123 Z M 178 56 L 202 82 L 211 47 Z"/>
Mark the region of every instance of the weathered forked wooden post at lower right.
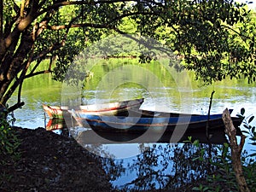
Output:
<path fill-rule="evenodd" d="M 245 136 L 241 134 L 241 142 L 238 145 L 236 140 L 236 128 L 233 125 L 232 119 L 230 117 L 230 112 L 226 108 L 222 114 L 222 119 L 225 125 L 225 133 L 229 137 L 230 148 L 231 148 L 231 160 L 234 172 L 236 174 L 236 182 L 241 192 L 250 192 L 250 189 L 247 186 L 245 177 L 242 172 L 241 166 L 241 150 L 245 143 Z"/>

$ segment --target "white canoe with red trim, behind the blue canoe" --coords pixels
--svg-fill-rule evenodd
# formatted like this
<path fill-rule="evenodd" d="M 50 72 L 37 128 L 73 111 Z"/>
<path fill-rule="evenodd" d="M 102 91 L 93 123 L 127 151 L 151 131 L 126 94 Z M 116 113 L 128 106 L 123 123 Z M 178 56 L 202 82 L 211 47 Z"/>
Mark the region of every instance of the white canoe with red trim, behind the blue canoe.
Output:
<path fill-rule="evenodd" d="M 79 113 L 90 113 L 90 114 L 115 114 L 123 112 L 130 108 L 140 108 L 144 99 L 134 99 L 122 102 L 109 102 L 109 103 L 100 103 L 92 105 L 79 106 L 74 108 L 75 111 Z M 49 106 L 43 104 L 45 113 L 48 114 L 49 119 L 64 119 L 64 112 L 72 110 L 73 108 L 68 108 L 66 106 Z"/>

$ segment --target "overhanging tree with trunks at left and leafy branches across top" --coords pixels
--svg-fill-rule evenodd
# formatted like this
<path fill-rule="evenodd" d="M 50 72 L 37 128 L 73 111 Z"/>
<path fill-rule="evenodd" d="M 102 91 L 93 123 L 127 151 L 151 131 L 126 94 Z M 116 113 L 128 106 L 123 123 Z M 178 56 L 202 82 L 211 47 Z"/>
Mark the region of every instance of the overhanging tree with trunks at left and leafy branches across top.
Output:
<path fill-rule="evenodd" d="M 78 35 L 81 35 L 82 39 L 81 44 L 78 42 L 79 45 L 75 47 L 75 49 L 71 50 L 67 48 L 69 49 L 67 50 L 65 48 L 60 50 L 60 52 L 58 51 L 60 58 L 66 61 L 60 64 L 60 69 L 61 67 L 65 68 L 64 65 L 66 65 L 69 60 L 72 60 L 73 55 L 76 55 L 79 49 L 82 49 L 82 46 L 86 46 L 84 41 L 95 41 L 99 39 L 102 32 L 105 31 L 90 30 L 90 28 L 110 29 L 118 32 L 119 26 L 122 25 L 123 18 L 129 18 L 130 16 L 131 19 L 134 19 L 137 23 L 137 25 L 134 26 L 138 26 L 137 32 L 141 30 L 141 34 L 147 37 L 163 37 L 170 48 L 174 47 L 179 54 L 183 53 L 183 58 L 185 58 L 188 63 L 186 67 L 195 70 L 197 73 L 200 73 L 201 67 L 202 69 L 206 69 L 205 71 L 210 71 L 207 75 L 211 74 L 212 68 L 207 67 L 207 64 L 210 66 L 213 65 L 211 65 L 210 62 L 202 64 L 202 61 L 194 60 L 194 52 L 191 52 L 191 50 L 197 51 L 196 54 L 198 55 L 205 56 L 208 61 L 215 56 L 214 53 L 216 52 L 219 53 L 219 55 L 224 55 L 225 52 L 228 52 L 227 56 L 229 56 L 236 46 L 241 46 L 241 51 L 238 51 L 237 55 L 241 55 L 242 61 L 246 61 L 248 55 L 251 57 L 254 55 L 253 51 L 255 45 L 248 43 L 247 38 L 239 36 L 239 38 L 242 38 L 243 41 L 246 41 L 246 43 L 250 45 L 248 51 L 247 49 L 242 49 L 242 46 L 247 46 L 246 44 L 240 45 L 238 41 L 232 41 L 237 34 L 232 31 L 232 26 L 234 26 L 234 30 L 240 33 L 239 35 L 247 35 L 244 33 L 248 33 L 252 30 L 249 28 L 251 25 L 248 23 L 244 25 L 241 23 L 242 30 L 235 28 L 239 20 L 249 20 L 250 18 L 247 16 L 250 15 L 244 15 L 243 13 L 246 11 L 240 11 L 241 9 L 237 8 L 233 3 L 230 3 L 230 1 L 20 0 L 20 3 L 17 4 L 15 0 L 9 0 L 9 2 L 12 8 L 3 9 L 3 6 L 6 4 L 5 1 L 1 2 L 3 6 L 0 7 L 0 35 L 4 33 L 3 37 L 5 38 L 0 44 L 0 61 L 2 61 L 0 68 L 1 98 L 3 96 L 2 93 L 6 93 L 6 91 L 9 90 L 9 86 L 14 84 L 15 78 L 19 77 L 22 67 L 26 65 L 26 59 L 29 58 L 30 55 L 31 44 L 30 39 L 25 37 L 29 37 L 29 33 L 31 32 L 34 34 L 32 41 L 36 42 L 37 46 L 35 47 L 32 61 L 43 61 L 49 54 L 57 54 L 55 50 L 61 49 L 61 47 L 65 45 L 68 35 L 71 34 L 68 41 L 74 41 L 73 39 L 76 38 L 76 35 L 73 34 L 73 31 L 75 30 L 69 32 L 71 28 L 83 27 L 83 30 L 88 29 L 88 33 L 78 33 Z M 21 4 L 22 6 L 20 6 Z M 65 6 L 67 8 L 61 8 Z M 60 17 L 58 17 L 59 15 L 55 15 L 56 11 L 60 11 Z M 71 15 L 68 15 L 69 13 L 71 13 Z M 134 15 L 138 15 L 137 19 L 132 17 Z M 219 15 L 221 15 L 221 18 L 218 17 Z M 56 19 L 56 17 L 58 18 Z M 231 28 L 226 28 L 227 30 L 224 30 L 224 28 L 222 30 L 220 27 L 223 26 L 217 25 L 216 28 L 211 27 L 212 25 L 218 24 L 215 22 L 214 18 L 223 21 L 228 20 L 229 22 L 220 22 L 220 24 L 230 25 Z M 172 29 L 170 27 L 172 27 Z M 159 33 L 159 29 L 164 34 Z M 190 31 L 190 29 L 192 30 Z M 62 41 L 60 39 L 61 42 L 57 42 L 55 39 L 55 33 L 57 32 L 51 31 L 59 32 L 61 30 Z M 218 30 L 224 32 L 226 36 L 223 35 L 218 38 Z M 168 32 L 170 32 L 170 34 L 168 34 Z M 119 31 L 119 33 L 122 34 L 123 32 Z M 98 37 L 96 37 L 97 35 Z M 252 36 L 252 34 L 248 34 L 249 38 Z M 48 38 L 52 39 L 48 40 Z M 235 46 L 232 47 L 230 44 L 227 44 L 224 47 L 224 39 L 227 39 L 226 42 L 230 44 L 234 42 Z M 20 44 L 24 44 L 24 46 L 20 46 Z M 71 47 L 70 44 L 68 44 L 68 47 Z M 67 51 L 68 56 L 65 57 L 66 53 L 61 53 L 61 51 Z M 213 54 L 207 54 L 207 51 Z M 226 59 L 227 56 L 224 59 Z M 207 59 L 204 60 L 207 61 Z M 215 58 L 213 58 L 213 60 L 214 59 Z M 222 63 L 217 60 L 219 61 L 217 58 L 214 63 L 217 63 L 216 65 L 222 65 Z M 34 66 L 32 73 L 26 74 L 26 77 L 28 77 L 27 75 L 34 75 L 38 65 L 39 63 Z M 253 71 L 253 67 L 248 67 L 248 65 L 245 65 L 244 68 L 249 68 L 248 70 Z M 216 68 L 215 72 L 217 75 L 223 75 L 224 70 L 218 70 L 221 69 L 221 67 Z M 60 76 L 63 72 L 61 70 L 59 73 Z M 218 71 L 221 73 L 218 74 Z M 7 74 L 9 75 L 9 79 L 6 78 Z M 202 76 L 205 75 L 203 71 L 201 71 L 200 74 Z M 250 73 L 249 75 L 254 78 L 254 74 L 255 73 Z M 212 77 L 215 78 L 215 76 Z"/>

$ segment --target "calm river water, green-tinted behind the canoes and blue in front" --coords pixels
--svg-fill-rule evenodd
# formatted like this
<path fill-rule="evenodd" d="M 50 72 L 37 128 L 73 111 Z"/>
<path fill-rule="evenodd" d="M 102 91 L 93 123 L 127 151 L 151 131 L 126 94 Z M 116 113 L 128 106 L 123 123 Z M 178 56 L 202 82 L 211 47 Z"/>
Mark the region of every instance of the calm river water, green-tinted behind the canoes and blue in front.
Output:
<path fill-rule="evenodd" d="M 48 74 L 26 79 L 21 98 L 26 105 L 15 111 L 15 125 L 30 129 L 44 127 L 48 118 L 45 120 L 42 104 L 63 105 L 70 100 L 91 104 L 144 97 L 143 109 L 207 114 L 212 90 L 215 93 L 211 113 L 233 108 L 232 115 L 236 116 L 241 108 L 245 108 L 246 116 L 256 114 L 256 84 L 247 84 L 244 79 L 202 85 L 195 81 L 194 73 L 176 73 L 155 63 L 135 65 L 123 61 L 94 65 L 89 71 L 91 76 L 84 81 L 83 88 L 80 85 L 68 88 L 66 84 L 53 81 Z M 83 130 L 81 127 L 75 129 L 76 134 Z M 112 175 L 113 186 L 118 188 L 177 186 L 181 183 L 177 177 L 189 183 L 193 182 L 191 174 L 202 172 L 195 171 L 191 162 L 195 148 L 186 144 L 96 143 L 87 144 L 86 148 L 92 153 L 113 157 L 106 158 L 103 165 Z M 247 151 L 253 149 L 248 144 L 245 148 Z M 187 172 L 177 171 L 184 167 Z"/>

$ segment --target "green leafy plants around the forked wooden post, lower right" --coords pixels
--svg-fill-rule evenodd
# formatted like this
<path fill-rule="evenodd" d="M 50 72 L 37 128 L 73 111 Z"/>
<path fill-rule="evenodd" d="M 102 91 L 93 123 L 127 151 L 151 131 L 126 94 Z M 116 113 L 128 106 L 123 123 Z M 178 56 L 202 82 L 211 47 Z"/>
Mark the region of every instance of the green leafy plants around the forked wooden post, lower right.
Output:
<path fill-rule="evenodd" d="M 250 125 L 253 121 L 254 116 L 245 118 L 245 109 L 241 108 L 241 113 L 237 114 L 243 120 L 243 126 L 246 128 L 246 131 L 242 131 L 250 137 L 250 140 L 255 145 L 255 128 Z M 191 142 L 191 138 L 189 138 Z M 198 146 L 198 142 L 194 142 L 195 146 Z M 201 149 L 203 154 L 205 151 Z M 205 161 L 202 157 L 202 154 L 199 155 L 195 160 Z M 241 154 L 241 161 L 243 163 L 243 172 L 246 177 L 247 185 L 251 191 L 256 190 L 255 184 L 255 174 L 256 174 L 256 161 L 252 159 L 256 154 L 247 155 L 247 151 L 244 151 Z M 200 184 L 193 189 L 195 191 L 238 191 L 235 172 L 232 168 L 231 156 L 230 156 L 230 146 L 228 143 L 224 143 L 223 146 L 218 147 L 218 154 L 212 160 L 210 160 L 212 166 L 212 172 L 207 176 L 207 184 Z"/>

